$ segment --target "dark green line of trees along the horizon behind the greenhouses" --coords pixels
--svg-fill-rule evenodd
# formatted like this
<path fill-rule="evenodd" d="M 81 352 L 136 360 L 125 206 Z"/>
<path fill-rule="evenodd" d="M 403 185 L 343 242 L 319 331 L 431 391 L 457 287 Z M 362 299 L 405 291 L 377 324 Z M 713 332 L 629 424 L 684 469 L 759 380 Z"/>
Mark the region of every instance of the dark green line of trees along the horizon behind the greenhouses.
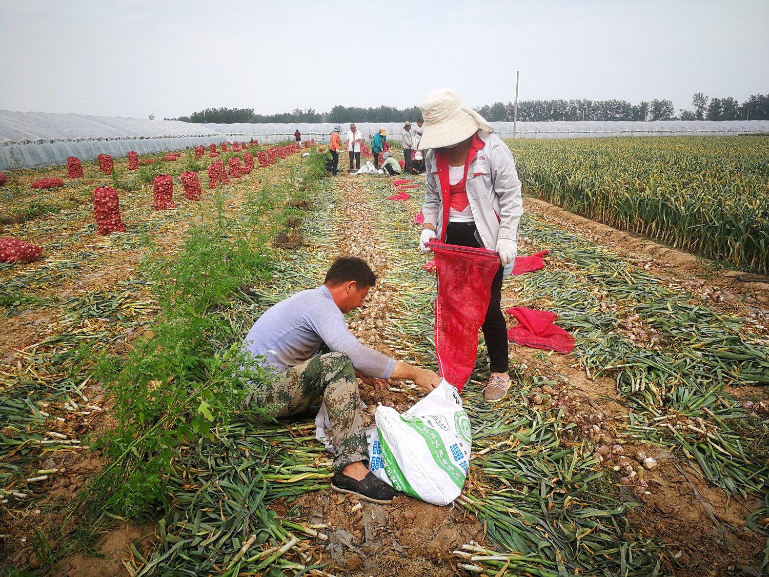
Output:
<path fill-rule="evenodd" d="M 553 122 L 553 121 L 652 121 L 652 120 L 769 120 L 769 94 L 751 95 L 745 102 L 738 102 L 731 96 L 726 98 L 709 98 L 702 92 L 692 97 L 692 109 L 676 111 L 673 102 L 667 99 L 641 101 L 632 104 L 625 100 L 590 100 L 577 98 L 564 100 L 524 100 L 518 102 L 518 120 L 522 122 Z M 475 108 L 489 122 L 512 122 L 514 117 L 513 102 L 494 102 Z M 301 110 L 295 108 L 291 112 L 261 115 L 255 114 L 254 108 L 206 108 L 193 112 L 189 116 L 164 118 L 165 120 L 181 120 L 183 122 L 215 122 L 217 124 L 268 123 L 278 122 L 290 124 L 293 122 L 403 122 L 415 121 L 421 118 L 418 106 L 410 108 L 395 108 L 394 106 L 378 106 L 376 108 L 360 108 L 357 106 L 336 105 L 329 112 L 315 112 L 314 108 Z"/>

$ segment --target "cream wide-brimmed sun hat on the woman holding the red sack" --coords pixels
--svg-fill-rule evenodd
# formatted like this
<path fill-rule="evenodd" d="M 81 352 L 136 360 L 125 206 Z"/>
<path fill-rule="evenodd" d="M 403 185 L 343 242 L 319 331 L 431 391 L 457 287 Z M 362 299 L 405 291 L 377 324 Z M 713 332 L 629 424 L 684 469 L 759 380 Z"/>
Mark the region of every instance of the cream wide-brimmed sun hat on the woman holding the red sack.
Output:
<path fill-rule="evenodd" d="M 429 92 L 419 108 L 424 118 L 419 150 L 458 144 L 478 130 L 494 132 L 483 116 L 472 108 L 465 108 L 451 88 Z"/>

